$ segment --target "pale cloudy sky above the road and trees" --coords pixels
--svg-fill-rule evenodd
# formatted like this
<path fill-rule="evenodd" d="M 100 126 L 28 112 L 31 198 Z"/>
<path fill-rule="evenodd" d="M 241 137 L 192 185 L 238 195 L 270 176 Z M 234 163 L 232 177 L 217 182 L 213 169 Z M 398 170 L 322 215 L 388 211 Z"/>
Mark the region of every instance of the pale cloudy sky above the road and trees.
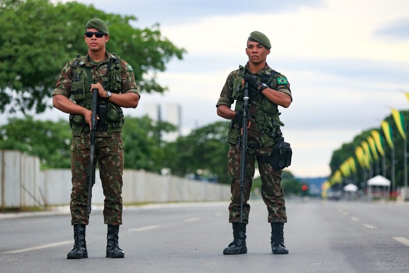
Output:
<path fill-rule="evenodd" d="M 248 35 L 266 34 L 267 63 L 291 84 L 294 101 L 280 117 L 293 147 L 289 171 L 298 177 L 328 176 L 334 150 L 380 127 L 391 108 L 409 106 L 403 94 L 409 91 L 407 0 L 78 2 L 134 15 L 134 27 L 159 23 L 164 37 L 187 50 L 158 74 L 167 94 L 142 94 L 140 106 L 126 112 L 142 116 L 144 104 L 180 103 L 185 130 L 222 120 L 215 103 L 228 73 L 246 63 Z M 66 117 L 57 110 L 43 117 L 50 114 Z"/>

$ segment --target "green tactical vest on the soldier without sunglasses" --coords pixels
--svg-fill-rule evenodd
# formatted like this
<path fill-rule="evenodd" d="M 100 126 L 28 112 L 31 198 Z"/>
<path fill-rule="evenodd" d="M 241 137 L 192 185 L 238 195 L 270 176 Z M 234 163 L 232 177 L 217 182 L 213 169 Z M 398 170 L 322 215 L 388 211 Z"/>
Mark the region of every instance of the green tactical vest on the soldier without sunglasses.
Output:
<path fill-rule="evenodd" d="M 243 76 L 248 73 L 245 67 L 239 66 L 239 71 L 233 81 L 233 94 L 232 98 L 236 100 L 235 111 L 243 110 L 243 93 L 244 87 L 242 84 Z M 268 68 L 260 70 L 258 78 L 269 78 L 266 82 L 269 88 L 276 88 L 278 86 L 277 78 L 280 73 Z M 257 107 L 256 115 L 253 117 L 256 120 L 257 129 L 260 132 L 261 142 L 264 147 L 270 147 L 275 144 L 274 139 L 281 136 L 280 126 L 284 126 L 279 119 L 278 105 L 270 101 L 268 98 L 256 92 L 250 95 L 249 91 L 249 104 L 253 104 Z M 236 121 L 233 119 L 230 123 L 229 132 L 227 136 L 227 142 L 230 144 L 237 143 L 237 137 L 239 136 L 239 130 Z"/>

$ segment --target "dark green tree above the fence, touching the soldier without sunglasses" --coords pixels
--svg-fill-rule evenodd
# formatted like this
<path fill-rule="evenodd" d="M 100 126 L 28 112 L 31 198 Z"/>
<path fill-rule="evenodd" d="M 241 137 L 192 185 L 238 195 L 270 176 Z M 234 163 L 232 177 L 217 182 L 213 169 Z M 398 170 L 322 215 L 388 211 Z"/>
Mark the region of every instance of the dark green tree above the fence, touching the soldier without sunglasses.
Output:
<path fill-rule="evenodd" d="M 228 126 L 228 121 L 218 121 L 168 143 L 165 146 L 165 166 L 176 176 L 230 183 L 226 158 Z"/>

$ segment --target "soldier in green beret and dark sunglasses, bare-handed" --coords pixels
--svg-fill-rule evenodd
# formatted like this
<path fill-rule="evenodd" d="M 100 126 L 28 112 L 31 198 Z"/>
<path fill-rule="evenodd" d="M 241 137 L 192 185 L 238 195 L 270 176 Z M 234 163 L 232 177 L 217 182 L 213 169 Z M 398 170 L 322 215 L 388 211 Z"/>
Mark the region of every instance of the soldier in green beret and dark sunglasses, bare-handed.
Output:
<path fill-rule="evenodd" d="M 109 39 L 109 29 L 103 20 L 89 20 L 84 35 L 88 54 L 78 55 L 64 66 L 53 91 L 53 106 L 70 114 L 73 135 L 70 209 L 74 248 L 68 253 L 68 259 L 88 257 L 85 227 L 89 223 L 87 170 L 90 161 L 93 89 L 98 90 L 95 161 L 98 162 L 105 196 L 103 215 L 108 225 L 106 257 L 125 256 L 118 244 L 119 225 L 122 224 L 124 167 L 122 107 L 136 108 L 140 95 L 130 64 L 115 53 L 106 51 Z"/>

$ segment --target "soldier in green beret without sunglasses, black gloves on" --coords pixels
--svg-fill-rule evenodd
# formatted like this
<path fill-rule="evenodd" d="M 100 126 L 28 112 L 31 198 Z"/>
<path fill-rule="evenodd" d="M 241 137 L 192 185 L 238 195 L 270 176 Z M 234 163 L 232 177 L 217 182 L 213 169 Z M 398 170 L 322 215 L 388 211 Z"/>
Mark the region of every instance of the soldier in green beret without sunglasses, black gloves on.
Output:
<path fill-rule="evenodd" d="M 275 169 L 268 156 L 273 146 L 283 141 L 280 130 L 284 124 L 279 118 L 278 106 L 287 108 L 293 98 L 287 78 L 271 69 L 267 62 L 270 54 L 270 40 L 261 32 L 254 31 L 247 39 L 246 55 L 248 62 L 229 74 L 216 104 L 217 114 L 230 119 L 227 142 L 230 148 L 228 172 L 231 178 L 231 202 L 229 205 L 229 222 L 233 226 L 233 242 L 223 250 L 223 254 L 245 254 L 246 225 L 250 212 L 247 203 L 250 197 L 255 163 L 258 162 L 261 176 L 261 196 L 267 206 L 267 220 L 271 223 L 271 247 L 273 254 L 288 254 L 284 245 L 284 223 L 287 222 L 284 193 L 281 188 L 282 169 Z M 248 83 L 248 114 L 250 121 L 242 124 L 244 83 Z M 231 105 L 236 102 L 235 109 Z M 241 218 L 241 128 L 248 127 L 248 152 L 244 178 L 243 215 Z"/>

